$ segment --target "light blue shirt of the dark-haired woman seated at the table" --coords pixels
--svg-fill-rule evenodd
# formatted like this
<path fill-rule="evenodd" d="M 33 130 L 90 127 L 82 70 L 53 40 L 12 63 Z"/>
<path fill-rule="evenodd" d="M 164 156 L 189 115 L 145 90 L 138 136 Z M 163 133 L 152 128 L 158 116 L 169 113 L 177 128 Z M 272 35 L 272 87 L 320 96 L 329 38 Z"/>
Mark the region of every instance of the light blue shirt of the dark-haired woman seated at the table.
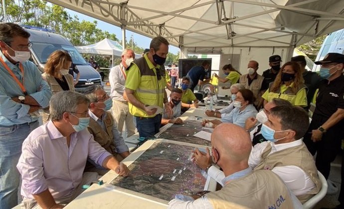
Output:
<path fill-rule="evenodd" d="M 239 108 L 234 108 L 228 115 L 224 115 L 224 117 L 221 118 L 221 122 L 233 123 L 238 126 L 244 127 L 247 118 L 256 117 L 257 113 L 258 112 L 256 108 L 252 104 L 249 104 L 243 111 L 240 111 Z"/>

